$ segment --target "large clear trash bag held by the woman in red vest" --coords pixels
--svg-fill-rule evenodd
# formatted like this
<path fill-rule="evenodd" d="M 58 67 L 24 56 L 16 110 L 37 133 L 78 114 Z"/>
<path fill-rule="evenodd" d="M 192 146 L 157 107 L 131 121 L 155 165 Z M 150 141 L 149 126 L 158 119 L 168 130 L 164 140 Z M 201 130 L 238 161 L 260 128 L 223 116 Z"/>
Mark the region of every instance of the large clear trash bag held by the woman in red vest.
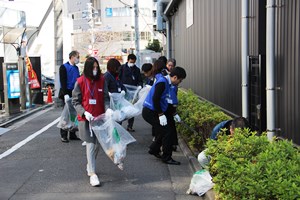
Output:
<path fill-rule="evenodd" d="M 106 155 L 123 170 L 127 145 L 136 140 L 107 113 L 96 117 L 91 126 Z"/>

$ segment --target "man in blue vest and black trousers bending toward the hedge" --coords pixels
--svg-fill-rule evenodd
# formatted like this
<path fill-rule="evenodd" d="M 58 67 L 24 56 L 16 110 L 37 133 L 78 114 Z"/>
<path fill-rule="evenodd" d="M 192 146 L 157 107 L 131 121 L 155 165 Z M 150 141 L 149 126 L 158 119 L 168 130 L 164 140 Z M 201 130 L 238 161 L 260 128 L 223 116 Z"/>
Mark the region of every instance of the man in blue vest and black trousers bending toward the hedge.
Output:
<path fill-rule="evenodd" d="M 172 158 L 171 131 L 165 112 L 169 105 L 170 84 L 178 85 L 185 77 L 186 72 L 181 67 L 174 68 L 168 77 L 157 76 L 143 104 L 142 116 L 155 129 L 155 140 L 150 145 L 148 153 L 160 158 L 166 164 L 180 165 L 180 162 Z M 162 155 L 160 155 L 161 147 Z"/>

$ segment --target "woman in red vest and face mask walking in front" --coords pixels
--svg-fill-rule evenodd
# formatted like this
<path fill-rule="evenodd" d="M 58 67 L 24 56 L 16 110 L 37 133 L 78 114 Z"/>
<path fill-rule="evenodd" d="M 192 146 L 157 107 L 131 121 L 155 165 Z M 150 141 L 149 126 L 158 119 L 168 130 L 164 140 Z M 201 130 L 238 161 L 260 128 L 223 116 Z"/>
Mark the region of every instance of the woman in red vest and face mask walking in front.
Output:
<path fill-rule="evenodd" d="M 109 107 L 108 88 L 98 61 L 89 57 L 84 63 L 83 75 L 77 79 L 72 92 L 72 104 L 78 117 L 79 138 L 86 142 L 87 174 L 92 186 L 99 186 L 96 174 L 96 157 L 99 142 L 90 131 L 90 122 Z"/>

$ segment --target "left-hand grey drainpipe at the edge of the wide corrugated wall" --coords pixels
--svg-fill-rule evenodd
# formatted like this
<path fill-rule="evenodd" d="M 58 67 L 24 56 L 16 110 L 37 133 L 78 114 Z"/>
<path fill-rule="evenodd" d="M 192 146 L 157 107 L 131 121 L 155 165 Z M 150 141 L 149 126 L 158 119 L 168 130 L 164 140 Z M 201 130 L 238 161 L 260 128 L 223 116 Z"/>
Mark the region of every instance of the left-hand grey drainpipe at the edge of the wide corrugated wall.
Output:
<path fill-rule="evenodd" d="M 249 119 L 248 77 L 249 67 L 249 0 L 242 1 L 242 116 Z"/>

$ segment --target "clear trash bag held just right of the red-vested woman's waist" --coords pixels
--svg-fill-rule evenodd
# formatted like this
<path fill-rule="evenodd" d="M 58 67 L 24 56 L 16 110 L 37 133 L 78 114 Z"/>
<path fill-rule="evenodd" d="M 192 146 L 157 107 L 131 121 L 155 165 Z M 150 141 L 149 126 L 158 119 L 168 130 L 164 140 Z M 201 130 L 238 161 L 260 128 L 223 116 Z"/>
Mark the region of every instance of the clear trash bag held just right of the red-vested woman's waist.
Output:
<path fill-rule="evenodd" d="M 128 102 L 121 93 L 110 93 L 110 108 L 114 111 L 113 119 L 117 122 L 139 115 L 139 110 Z"/>

